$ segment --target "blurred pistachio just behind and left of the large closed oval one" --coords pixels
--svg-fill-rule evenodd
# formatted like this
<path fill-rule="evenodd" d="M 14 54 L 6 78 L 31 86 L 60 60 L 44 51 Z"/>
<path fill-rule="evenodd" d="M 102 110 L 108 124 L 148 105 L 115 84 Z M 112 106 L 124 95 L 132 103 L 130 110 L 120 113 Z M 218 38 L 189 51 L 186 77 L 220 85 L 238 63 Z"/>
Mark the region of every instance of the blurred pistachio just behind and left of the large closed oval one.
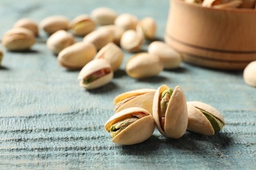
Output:
<path fill-rule="evenodd" d="M 73 35 L 64 30 L 59 30 L 53 33 L 49 39 L 47 39 L 47 47 L 54 54 L 58 54 L 64 48 L 71 46 L 75 43 Z"/>

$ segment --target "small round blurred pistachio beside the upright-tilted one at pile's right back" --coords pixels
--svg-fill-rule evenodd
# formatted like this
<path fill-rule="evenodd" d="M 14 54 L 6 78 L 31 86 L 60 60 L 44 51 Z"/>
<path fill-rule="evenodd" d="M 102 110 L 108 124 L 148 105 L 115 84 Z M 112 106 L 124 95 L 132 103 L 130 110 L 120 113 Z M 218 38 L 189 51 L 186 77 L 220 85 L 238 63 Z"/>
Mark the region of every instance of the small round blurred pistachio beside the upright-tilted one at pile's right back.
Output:
<path fill-rule="evenodd" d="M 130 29 L 123 33 L 120 40 L 120 46 L 128 52 L 139 52 L 141 50 L 143 40 L 144 39 L 140 33 Z"/>

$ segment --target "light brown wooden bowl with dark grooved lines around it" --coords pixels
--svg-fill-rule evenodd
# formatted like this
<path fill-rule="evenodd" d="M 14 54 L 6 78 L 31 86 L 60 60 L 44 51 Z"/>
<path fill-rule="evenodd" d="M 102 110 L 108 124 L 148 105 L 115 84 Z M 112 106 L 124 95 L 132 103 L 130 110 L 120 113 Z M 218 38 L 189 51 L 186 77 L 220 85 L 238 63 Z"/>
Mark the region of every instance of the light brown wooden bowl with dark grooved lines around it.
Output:
<path fill-rule="evenodd" d="M 188 63 L 244 69 L 256 60 L 256 10 L 214 9 L 171 0 L 165 42 Z"/>

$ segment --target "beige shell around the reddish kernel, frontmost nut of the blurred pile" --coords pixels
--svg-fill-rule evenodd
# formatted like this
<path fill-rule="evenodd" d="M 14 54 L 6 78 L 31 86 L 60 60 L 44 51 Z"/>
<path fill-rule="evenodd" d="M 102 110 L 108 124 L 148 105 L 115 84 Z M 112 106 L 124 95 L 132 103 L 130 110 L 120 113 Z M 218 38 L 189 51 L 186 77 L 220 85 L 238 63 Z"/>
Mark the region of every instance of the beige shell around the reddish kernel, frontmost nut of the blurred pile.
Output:
<path fill-rule="evenodd" d="M 92 73 L 95 73 L 100 69 L 110 69 L 110 73 L 94 80 L 89 84 L 83 84 L 83 79 L 85 77 L 91 75 Z M 110 63 L 106 61 L 106 59 L 94 59 L 92 61 L 89 61 L 89 63 L 87 63 L 87 65 L 85 65 L 83 69 L 81 69 L 78 75 L 78 79 L 81 80 L 80 81 L 81 87 L 90 90 L 90 89 L 99 88 L 101 86 L 104 86 L 105 84 L 108 84 L 108 82 L 112 80 L 113 76 L 114 74 L 112 71 L 112 67 Z"/>

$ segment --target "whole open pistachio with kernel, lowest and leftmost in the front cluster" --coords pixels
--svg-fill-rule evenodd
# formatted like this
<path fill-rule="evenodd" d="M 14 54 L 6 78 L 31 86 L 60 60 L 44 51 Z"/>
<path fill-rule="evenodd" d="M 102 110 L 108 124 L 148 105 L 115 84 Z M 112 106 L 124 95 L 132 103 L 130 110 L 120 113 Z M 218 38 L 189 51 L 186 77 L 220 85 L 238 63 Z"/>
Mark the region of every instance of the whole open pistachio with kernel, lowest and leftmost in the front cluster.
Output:
<path fill-rule="evenodd" d="M 137 144 L 152 136 L 155 125 L 150 113 L 140 107 L 131 107 L 114 114 L 105 124 L 112 142 L 120 145 Z"/>

